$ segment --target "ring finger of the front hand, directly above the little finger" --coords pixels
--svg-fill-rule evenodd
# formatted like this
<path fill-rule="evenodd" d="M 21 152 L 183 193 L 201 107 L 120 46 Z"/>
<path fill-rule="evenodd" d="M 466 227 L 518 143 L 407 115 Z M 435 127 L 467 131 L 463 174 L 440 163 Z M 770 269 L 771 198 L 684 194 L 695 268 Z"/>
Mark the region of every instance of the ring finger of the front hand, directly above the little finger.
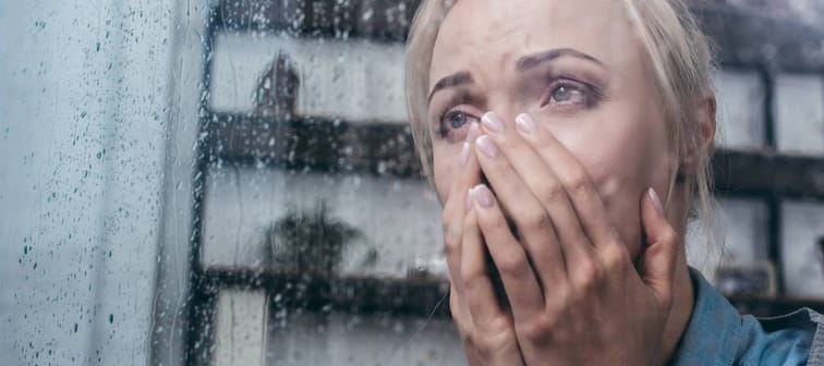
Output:
<path fill-rule="evenodd" d="M 510 161 L 498 154 L 496 144 L 486 135 L 477 138 L 481 170 L 495 190 L 502 211 L 516 223 L 518 236 L 538 276 L 541 289 L 547 289 L 566 278 L 564 254 L 558 244 L 553 221 L 544 206 L 518 176 Z M 541 176 L 538 167 L 532 175 Z"/>

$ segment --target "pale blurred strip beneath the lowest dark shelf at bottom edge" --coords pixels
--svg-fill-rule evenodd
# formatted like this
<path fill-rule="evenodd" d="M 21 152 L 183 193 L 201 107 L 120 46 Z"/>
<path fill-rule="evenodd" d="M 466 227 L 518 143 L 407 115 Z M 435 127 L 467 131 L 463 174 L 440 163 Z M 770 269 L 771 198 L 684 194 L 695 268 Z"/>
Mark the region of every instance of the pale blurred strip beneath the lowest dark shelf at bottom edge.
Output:
<path fill-rule="evenodd" d="M 268 321 L 274 365 L 465 365 L 451 320 L 408 316 L 279 314 Z"/>

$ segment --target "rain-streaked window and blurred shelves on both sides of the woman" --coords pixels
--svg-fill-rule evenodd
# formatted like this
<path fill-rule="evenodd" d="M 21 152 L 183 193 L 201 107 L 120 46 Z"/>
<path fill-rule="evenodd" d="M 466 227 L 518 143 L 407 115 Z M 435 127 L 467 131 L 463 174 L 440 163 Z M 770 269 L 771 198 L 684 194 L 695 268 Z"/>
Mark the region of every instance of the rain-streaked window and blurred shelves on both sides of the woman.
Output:
<path fill-rule="evenodd" d="M 824 309 L 824 1 L 690 1 L 741 312 Z M 456 365 L 415 0 L 0 1 L 0 364 Z"/>

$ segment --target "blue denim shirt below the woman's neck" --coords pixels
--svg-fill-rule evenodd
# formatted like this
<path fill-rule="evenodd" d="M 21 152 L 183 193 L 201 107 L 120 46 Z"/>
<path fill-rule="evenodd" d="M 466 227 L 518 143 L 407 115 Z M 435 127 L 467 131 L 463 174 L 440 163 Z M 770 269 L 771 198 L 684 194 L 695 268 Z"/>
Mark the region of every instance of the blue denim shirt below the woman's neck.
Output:
<path fill-rule="evenodd" d="M 672 365 L 824 365 L 824 317 L 803 308 L 756 319 L 690 269 L 695 306 Z"/>

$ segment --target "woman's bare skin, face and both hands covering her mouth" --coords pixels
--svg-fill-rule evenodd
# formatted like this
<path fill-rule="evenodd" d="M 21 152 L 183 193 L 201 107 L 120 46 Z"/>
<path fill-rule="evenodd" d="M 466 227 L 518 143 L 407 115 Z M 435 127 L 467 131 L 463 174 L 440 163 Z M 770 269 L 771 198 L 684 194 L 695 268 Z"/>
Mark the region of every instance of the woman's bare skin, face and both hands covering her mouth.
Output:
<path fill-rule="evenodd" d="M 620 7 L 460 0 L 443 22 L 428 122 L 471 365 L 664 364 L 689 321 L 689 198 L 669 183 L 692 167 Z M 694 106 L 708 148 L 714 101 Z"/>

